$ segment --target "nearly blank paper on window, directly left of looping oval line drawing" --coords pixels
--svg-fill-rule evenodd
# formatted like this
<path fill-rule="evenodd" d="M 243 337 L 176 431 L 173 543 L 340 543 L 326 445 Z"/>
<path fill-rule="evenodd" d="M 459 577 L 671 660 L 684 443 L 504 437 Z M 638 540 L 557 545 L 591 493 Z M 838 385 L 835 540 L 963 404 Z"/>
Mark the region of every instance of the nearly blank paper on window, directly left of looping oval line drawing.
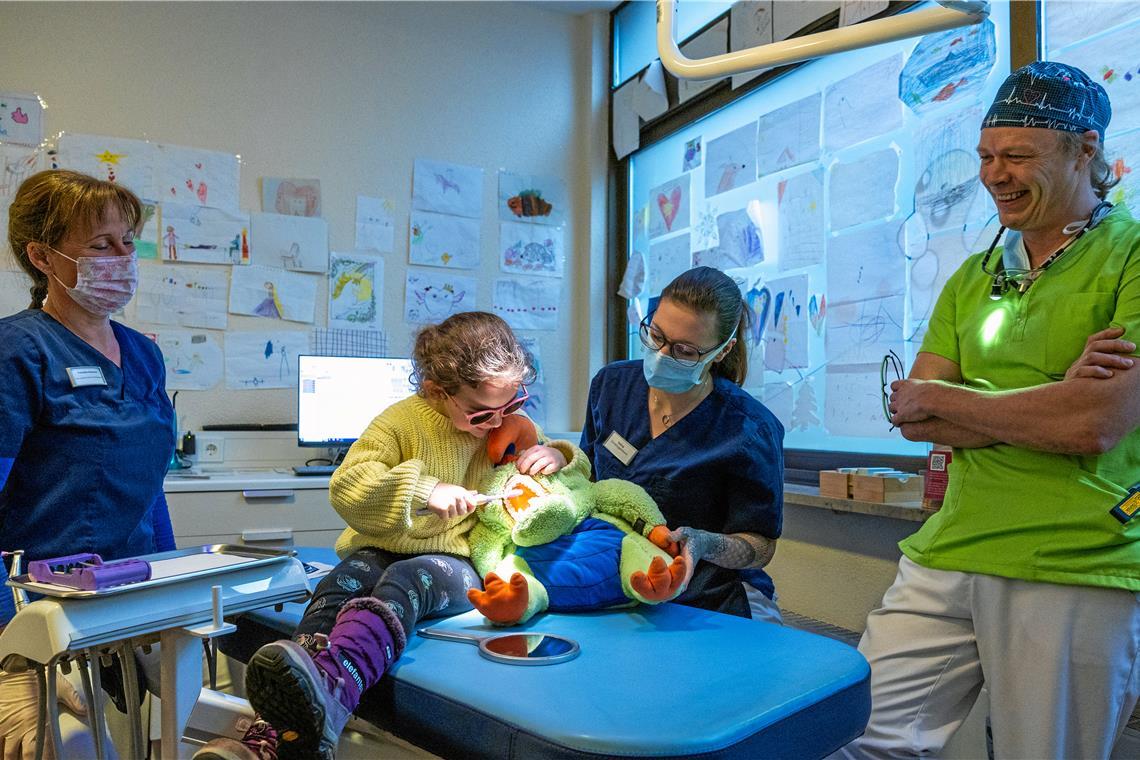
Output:
<path fill-rule="evenodd" d="M 898 210 L 898 150 L 883 148 L 850 163 L 831 164 L 828 189 L 831 198 L 831 231 L 878 219 L 889 219 Z"/>

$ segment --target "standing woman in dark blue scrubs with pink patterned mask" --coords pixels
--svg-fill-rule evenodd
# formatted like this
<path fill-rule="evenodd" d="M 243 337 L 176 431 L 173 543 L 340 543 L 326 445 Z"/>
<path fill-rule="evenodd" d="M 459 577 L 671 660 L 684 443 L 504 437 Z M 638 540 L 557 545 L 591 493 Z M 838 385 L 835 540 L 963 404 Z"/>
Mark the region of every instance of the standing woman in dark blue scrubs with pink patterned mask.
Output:
<path fill-rule="evenodd" d="M 25 180 L 9 210 L 8 242 L 32 278 L 32 303 L 0 319 L 0 549 L 28 561 L 174 548 L 162 491 L 174 448 L 162 353 L 111 320 L 135 293 L 140 219 L 130 190 L 57 170 Z M 3 588 L 0 624 L 14 612 Z M 0 679 L 6 703 L 25 686 L 23 676 Z M 26 686 L 34 704 L 34 679 Z M 8 757 L 31 742 L 34 711 L 31 726 L 6 712 Z"/>

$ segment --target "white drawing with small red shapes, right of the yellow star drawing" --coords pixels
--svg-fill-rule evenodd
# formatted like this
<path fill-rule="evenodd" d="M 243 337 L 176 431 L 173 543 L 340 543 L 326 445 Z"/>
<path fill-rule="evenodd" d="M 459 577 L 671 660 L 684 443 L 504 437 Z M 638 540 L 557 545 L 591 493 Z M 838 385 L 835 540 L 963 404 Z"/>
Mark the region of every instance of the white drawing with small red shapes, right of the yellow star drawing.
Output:
<path fill-rule="evenodd" d="M 237 211 L 238 157 L 233 153 L 160 142 L 154 180 L 158 193 L 150 197 Z"/>

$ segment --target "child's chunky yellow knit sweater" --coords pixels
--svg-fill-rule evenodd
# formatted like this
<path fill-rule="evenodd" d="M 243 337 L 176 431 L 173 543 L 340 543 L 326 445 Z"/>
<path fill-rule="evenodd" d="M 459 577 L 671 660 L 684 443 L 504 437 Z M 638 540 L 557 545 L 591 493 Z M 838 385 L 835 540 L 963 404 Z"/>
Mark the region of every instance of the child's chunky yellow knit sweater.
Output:
<path fill-rule="evenodd" d="M 575 456 L 569 442 L 547 444 L 567 461 Z M 490 469 L 486 439 L 456 430 L 418 395 L 393 403 L 372 420 L 328 482 L 328 499 L 348 523 L 336 540 L 336 554 L 344 558 L 377 547 L 398 554 L 471 556 L 467 532 L 475 524 L 474 513 L 443 520 L 416 510 L 427 506 L 438 483 L 474 490 Z"/>

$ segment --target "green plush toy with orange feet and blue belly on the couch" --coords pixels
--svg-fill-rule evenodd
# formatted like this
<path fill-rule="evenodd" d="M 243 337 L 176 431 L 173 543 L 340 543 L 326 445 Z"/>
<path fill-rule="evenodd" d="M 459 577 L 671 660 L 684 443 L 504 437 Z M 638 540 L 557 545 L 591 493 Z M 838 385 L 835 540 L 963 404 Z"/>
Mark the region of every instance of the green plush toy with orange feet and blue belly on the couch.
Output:
<path fill-rule="evenodd" d="M 490 622 L 510 626 L 545 610 L 580 612 L 677 597 L 685 561 L 665 550 L 676 547 L 649 493 L 621 480 L 592 483 L 581 452 L 553 475 L 523 475 L 511 464 L 513 452 L 535 443 L 535 426 L 522 415 L 504 418 L 488 436 L 488 456 L 498 466 L 480 490 L 512 496 L 480 507 L 469 537 L 471 561 L 484 577 L 484 590 L 467 591 L 475 608 Z"/>

